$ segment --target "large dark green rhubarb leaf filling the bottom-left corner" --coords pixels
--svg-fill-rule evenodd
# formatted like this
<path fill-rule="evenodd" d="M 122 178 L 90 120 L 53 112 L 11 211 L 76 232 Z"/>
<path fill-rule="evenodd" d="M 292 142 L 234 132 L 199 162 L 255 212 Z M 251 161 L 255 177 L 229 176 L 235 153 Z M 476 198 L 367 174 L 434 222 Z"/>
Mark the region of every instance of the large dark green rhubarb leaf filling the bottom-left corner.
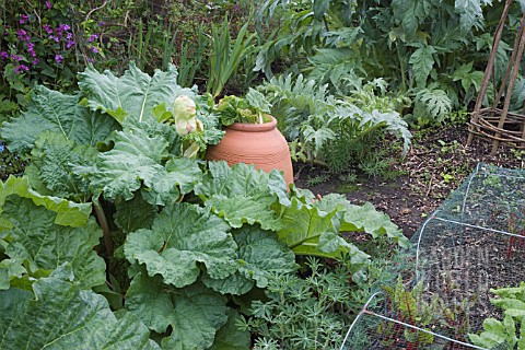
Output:
<path fill-rule="evenodd" d="M 20 289 L 0 291 L 0 348 L 159 349 L 131 313 L 117 319 L 104 296 L 80 290 L 56 273 Z"/>

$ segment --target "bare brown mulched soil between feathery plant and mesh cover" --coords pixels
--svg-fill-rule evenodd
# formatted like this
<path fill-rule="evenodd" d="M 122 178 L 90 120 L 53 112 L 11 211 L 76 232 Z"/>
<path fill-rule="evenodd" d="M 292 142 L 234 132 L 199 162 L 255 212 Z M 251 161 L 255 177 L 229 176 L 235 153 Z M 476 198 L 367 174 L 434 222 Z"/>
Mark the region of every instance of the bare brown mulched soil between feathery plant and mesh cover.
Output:
<path fill-rule="evenodd" d="M 475 138 L 472 144 L 466 147 L 467 138 L 466 125 L 417 132 L 408 154 L 392 164 L 392 170 L 402 175 L 392 179 L 358 174 L 358 180 L 350 186 L 341 184 L 337 176 L 307 186 L 310 178 L 326 175 L 326 170 L 295 164 L 295 185 L 322 196 L 345 194 L 357 205 L 370 201 L 390 215 L 410 237 L 479 162 L 510 168 L 525 167 L 525 152 L 501 145 L 499 153 L 491 156 L 491 141 Z"/>

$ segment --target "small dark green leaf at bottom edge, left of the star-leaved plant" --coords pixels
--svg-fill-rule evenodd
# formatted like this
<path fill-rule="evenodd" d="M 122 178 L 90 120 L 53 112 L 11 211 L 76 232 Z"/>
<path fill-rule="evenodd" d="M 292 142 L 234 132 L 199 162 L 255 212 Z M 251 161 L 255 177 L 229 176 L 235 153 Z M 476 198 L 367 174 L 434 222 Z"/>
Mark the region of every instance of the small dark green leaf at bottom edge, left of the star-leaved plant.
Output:
<path fill-rule="evenodd" d="M 238 330 L 236 326 L 241 315 L 233 308 L 228 311 L 228 322 L 215 334 L 215 341 L 210 350 L 246 350 L 249 349 L 252 336 L 249 331 Z"/>

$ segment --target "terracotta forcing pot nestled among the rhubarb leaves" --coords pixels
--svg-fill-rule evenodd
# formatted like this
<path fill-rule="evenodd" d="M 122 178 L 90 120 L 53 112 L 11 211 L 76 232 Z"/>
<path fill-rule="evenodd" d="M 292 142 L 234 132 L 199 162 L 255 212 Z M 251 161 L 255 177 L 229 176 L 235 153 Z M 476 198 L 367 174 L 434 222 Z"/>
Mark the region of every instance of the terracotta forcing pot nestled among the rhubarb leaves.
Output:
<path fill-rule="evenodd" d="M 218 144 L 206 151 L 208 161 L 226 161 L 254 164 L 267 173 L 277 168 L 284 172 L 284 180 L 293 184 L 292 160 L 288 142 L 277 129 L 277 119 L 265 124 L 234 122 L 225 128 L 226 133 Z"/>

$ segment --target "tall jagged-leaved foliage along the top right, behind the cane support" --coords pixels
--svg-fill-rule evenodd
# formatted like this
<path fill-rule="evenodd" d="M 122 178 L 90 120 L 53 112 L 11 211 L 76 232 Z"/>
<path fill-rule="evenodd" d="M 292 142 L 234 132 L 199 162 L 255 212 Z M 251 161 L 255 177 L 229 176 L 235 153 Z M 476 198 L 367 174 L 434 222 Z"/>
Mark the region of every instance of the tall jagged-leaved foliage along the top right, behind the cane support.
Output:
<path fill-rule="evenodd" d="M 350 95 L 358 79 L 384 78 L 395 95 L 410 98 L 402 110 L 407 121 L 441 124 L 476 98 L 503 5 L 485 0 L 267 0 L 258 27 L 269 19 L 280 26 L 259 49 L 256 69 L 268 78 L 276 66 L 305 72 L 340 96 Z M 504 77 L 522 8 L 522 1 L 512 4 L 497 55 L 497 83 Z M 285 55 L 294 60 L 282 67 Z M 523 77 L 517 81 L 514 109 L 524 101 Z"/>

